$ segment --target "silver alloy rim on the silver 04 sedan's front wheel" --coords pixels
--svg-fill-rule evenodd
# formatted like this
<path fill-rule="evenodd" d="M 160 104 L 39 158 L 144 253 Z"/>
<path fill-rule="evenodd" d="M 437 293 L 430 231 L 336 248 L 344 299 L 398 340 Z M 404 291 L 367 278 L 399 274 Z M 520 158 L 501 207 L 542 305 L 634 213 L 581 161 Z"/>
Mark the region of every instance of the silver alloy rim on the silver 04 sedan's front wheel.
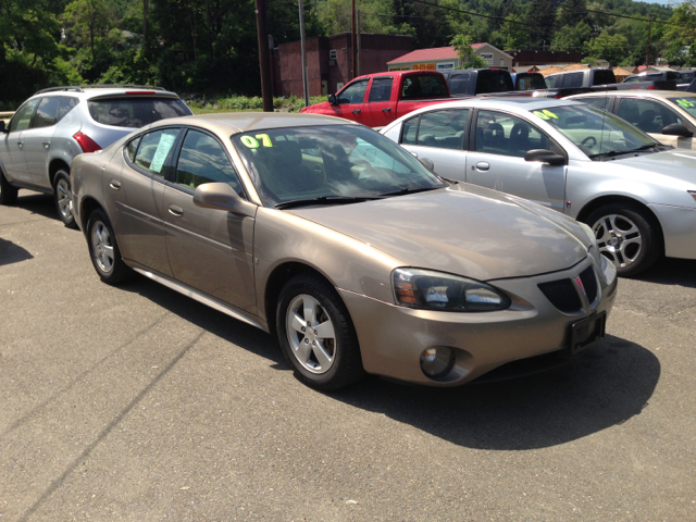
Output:
<path fill-rule="evenodd" d="M 599 252 L 613 262 L 617 269 L 625 269 L 638 259 L 643 238 L 637 225 L 625 215 L 608 214 L 592 227 Z"/>

